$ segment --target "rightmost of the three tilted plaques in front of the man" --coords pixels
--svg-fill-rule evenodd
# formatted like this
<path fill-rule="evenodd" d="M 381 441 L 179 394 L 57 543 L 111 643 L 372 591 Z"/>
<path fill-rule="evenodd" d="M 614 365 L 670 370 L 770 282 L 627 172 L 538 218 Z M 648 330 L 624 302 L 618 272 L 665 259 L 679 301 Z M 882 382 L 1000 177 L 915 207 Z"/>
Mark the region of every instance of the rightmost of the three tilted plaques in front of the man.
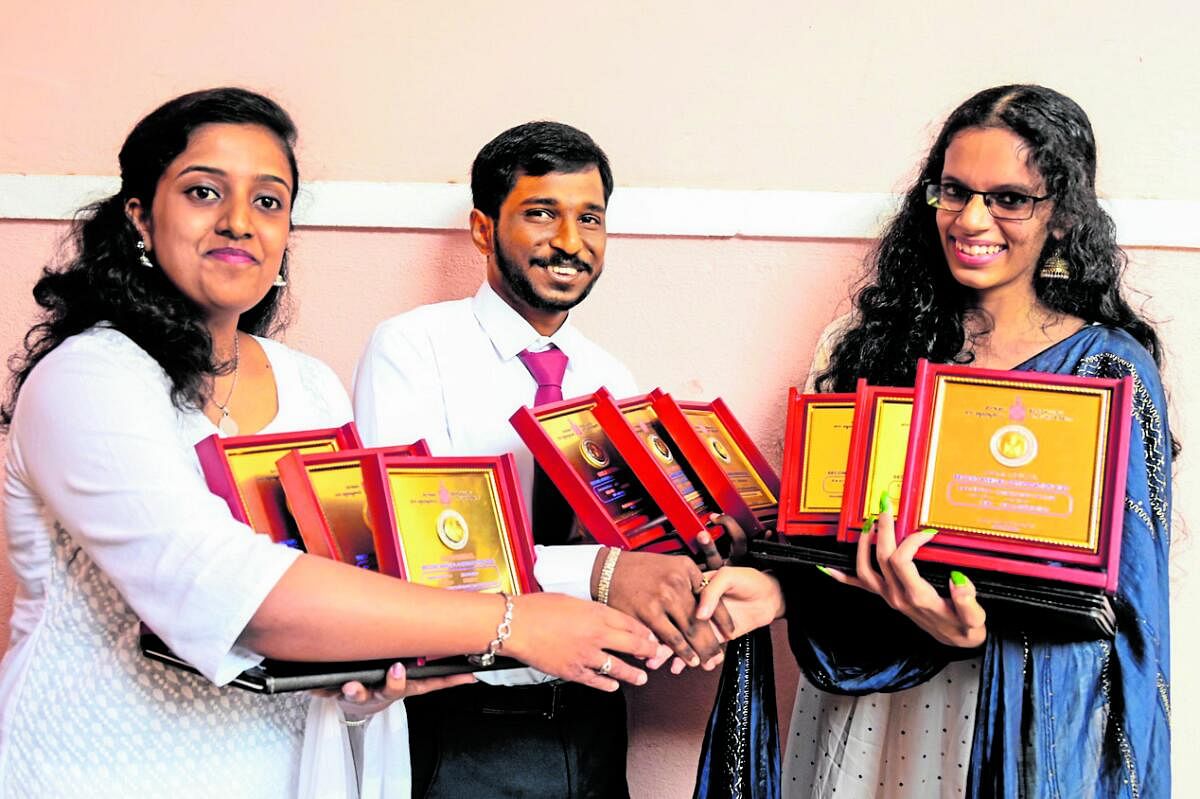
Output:
<path fill-rule="evenodd" d="M 650 397 L 662 426 L 721 510 L 749 537 L 773 530 L 779 476 L 725 402 L 677 402 L 659 390 Z"/>

